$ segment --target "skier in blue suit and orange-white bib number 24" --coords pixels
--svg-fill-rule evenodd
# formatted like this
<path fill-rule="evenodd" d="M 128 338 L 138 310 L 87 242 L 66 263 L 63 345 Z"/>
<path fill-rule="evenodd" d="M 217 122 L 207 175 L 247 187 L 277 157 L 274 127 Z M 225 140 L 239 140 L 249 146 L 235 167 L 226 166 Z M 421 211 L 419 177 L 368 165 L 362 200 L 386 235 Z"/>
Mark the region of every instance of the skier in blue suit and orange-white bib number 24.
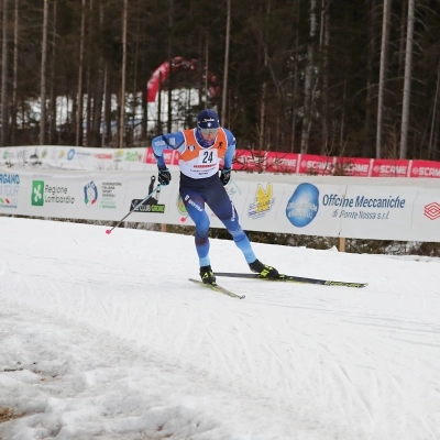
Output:
<path fill-rule="evenodd" d="M 222 221 L 252 272 L 262 277 L 277 278 L 278 271 L 258 261 L 251 242 L 239 223 L 237 210 L 224 189 L 231 178 L 235 138 L 220 127 L 213 110 L 204 110 L 197 117 L 197 128 L 153 139 L 152 146 L 158 167 L 158 182 L 166 186 L 172 179 L 165 165 L 163 151 L 175 150 L 179 154 L 179 193 L 185 208 L 196 224 L 196 250 L 200 263 L 200 277 L 205 284 L 216 284 L 209 258 L 209 217 L 205 204 Z M 219 176 L 220 161 L 224 161 Z"/>

